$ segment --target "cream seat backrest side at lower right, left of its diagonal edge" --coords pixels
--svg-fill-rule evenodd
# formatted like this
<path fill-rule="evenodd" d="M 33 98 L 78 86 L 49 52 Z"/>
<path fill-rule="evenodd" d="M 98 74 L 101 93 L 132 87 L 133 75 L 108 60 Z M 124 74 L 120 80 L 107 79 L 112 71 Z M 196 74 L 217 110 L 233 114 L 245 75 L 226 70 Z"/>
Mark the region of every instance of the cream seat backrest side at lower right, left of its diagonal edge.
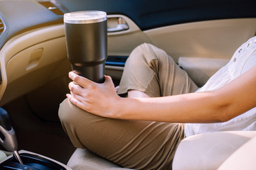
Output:
<path fill-rule="evenodd" d="M 256 137 L 256 131 L 213 132 L 187 137 L 178 145 L 173 169 L 218 169 L 253 137 Z"/>

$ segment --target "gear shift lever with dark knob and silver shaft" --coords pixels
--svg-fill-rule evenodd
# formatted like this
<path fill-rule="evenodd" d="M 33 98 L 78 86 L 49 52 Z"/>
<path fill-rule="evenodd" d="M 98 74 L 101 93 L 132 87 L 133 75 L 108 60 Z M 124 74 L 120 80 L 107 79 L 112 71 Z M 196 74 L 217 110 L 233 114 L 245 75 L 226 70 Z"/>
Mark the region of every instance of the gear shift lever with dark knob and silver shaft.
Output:
<path fill-rule="evenodd" d="M 9 115 L 3 108 L 0 108 L 0 143 L 7 151 L 13 152 L 18 162 L 23 164 L 17 152 L 18 142 L 14 128 L 11 127 Z"/>

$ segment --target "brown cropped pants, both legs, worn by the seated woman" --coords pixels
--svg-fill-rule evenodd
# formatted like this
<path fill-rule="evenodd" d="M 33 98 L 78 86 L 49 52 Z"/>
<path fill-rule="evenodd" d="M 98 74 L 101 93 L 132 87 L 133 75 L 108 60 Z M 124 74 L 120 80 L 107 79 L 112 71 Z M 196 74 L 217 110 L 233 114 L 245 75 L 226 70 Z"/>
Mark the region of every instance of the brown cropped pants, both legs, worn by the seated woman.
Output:
<path fill-rule="evenodd" d="M 127 60 L 119 94 L 129 89 L 154 97 L 193 92 L 197 86 L 163 50 L 143 44 Z M 171 169 L 185 137 L 183 124 L 102 118 L 68 100 L 60 104 L 59 117 L 75 147 L 132 169 Z"/>

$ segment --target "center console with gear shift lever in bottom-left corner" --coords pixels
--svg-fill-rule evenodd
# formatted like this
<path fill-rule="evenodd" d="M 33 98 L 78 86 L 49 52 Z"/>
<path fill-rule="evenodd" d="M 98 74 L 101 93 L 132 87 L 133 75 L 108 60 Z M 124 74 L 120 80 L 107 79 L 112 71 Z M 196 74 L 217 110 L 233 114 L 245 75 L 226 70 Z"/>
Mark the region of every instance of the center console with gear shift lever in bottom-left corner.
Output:
<path fill-rule="evenodd" d="M 0 108 L 0 144 L 10 153 L 0 160 L 1 170 L 72 170 L 65 164 L 40 154 L 25 150 L 17 151 L 18 142 L 11 127 L 8 113 Z"/>

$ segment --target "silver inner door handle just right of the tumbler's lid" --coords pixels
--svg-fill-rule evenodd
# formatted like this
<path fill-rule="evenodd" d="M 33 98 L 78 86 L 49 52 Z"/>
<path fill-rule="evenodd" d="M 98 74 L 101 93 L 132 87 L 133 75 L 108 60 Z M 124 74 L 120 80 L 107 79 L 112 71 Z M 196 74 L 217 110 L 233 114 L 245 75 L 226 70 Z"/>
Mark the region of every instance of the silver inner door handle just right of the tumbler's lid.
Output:
<path fill-rule="evenodd" d="M 107 32 L 114 33 L 119 31 L 128 30 L 129 26 L 123 18 L 110 18 L 111 21 L 108 22 Z M 110 23 L 111 22 L 111 23 Z M 110 24 L 109 24 L 110 23 Z"/>

